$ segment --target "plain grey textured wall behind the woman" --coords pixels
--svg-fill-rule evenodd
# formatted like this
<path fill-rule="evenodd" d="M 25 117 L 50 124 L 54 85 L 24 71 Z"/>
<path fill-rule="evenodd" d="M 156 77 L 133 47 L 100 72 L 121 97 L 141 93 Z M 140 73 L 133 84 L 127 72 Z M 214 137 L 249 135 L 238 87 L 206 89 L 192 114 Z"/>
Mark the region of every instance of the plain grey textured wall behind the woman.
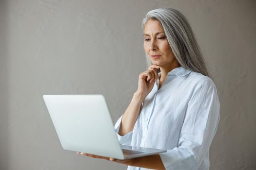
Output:
<path fill-rule="evenodd" d="M 140 29 L 158 7 L 190 21 L 214 73 L 211 170 L 256 169 L 255 0 L 1 0 L 0 170 L 125 170 L 61 148 L 43 94 L 105 95 L 113 121 L 146 67 Z"/>

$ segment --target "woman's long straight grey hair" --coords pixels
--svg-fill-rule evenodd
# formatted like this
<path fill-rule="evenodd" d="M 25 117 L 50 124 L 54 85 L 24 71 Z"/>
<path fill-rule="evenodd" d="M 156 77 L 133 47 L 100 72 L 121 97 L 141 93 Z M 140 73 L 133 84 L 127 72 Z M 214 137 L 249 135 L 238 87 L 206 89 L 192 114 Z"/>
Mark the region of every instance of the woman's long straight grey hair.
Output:
<path fill-rule="evenodd" d="M 158 8 L 149 11 L 142 20 L 142 32 L 144 32 L 146 22 L 150 19 L 157 20 L 161 24 L 169 46 L 182 67 L 212 77 L 189 22 L 179 11 L 173 8 Z M 146 52 L 145 54 L 147 65 L 152 65 Z"/>

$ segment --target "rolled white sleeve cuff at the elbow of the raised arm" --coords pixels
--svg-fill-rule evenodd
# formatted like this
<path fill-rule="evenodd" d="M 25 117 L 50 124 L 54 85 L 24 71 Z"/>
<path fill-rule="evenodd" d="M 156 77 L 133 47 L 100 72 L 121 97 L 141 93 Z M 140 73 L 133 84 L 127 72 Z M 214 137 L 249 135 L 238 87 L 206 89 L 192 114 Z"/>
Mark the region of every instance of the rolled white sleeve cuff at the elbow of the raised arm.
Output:
<path fill-rule="evenodd" d="M 118 134 L 122 117 L 123 117 L 123 115 L 117 120 L 117 122 L 116 122 L 116 124 L 114 126 L 114 129 L 116 131 L 116 134 L 118 136 L 118 141 L 119 141 L 120 144 L 131 145 L 133 131 L 129 132 L 128 134 L 125 134 L 124 136 L 120 136 Z"/>

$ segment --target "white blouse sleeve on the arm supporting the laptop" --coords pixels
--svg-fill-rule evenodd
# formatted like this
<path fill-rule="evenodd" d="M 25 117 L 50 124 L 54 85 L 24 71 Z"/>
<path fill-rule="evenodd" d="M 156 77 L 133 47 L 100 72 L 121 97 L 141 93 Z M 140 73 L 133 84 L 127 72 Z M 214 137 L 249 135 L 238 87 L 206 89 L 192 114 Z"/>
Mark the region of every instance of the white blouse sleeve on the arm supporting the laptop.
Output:
<path fill-rule="evenodd" d="M 188 102 L 178 147 L 159 153 L 166 170 L 209 169 L 209 148 L 219 122 L 219 100 L 214 82 L 198 85 Z M 204 166 L 202 162 L 204 161 Z"/>

